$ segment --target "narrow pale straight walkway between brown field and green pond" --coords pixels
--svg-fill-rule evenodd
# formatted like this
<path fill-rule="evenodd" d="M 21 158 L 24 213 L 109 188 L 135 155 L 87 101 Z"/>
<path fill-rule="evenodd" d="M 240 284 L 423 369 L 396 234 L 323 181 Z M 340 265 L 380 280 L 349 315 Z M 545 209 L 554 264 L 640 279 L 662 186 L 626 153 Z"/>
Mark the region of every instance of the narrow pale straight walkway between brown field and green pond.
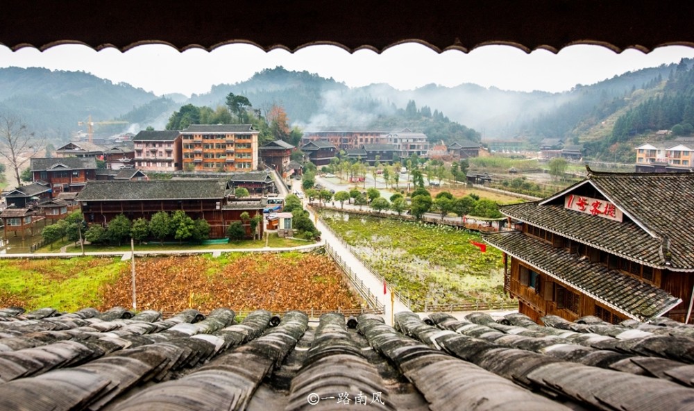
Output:
<path fill-rule="evenodd" d="M 294 187 L 294 190 L 296 191 L 301 191 L 301 181 L 295 180 L 292 182 L 292 185 Z M 304 199 L 304 204 L 307 203 L 307 200 Z M 361 261 L 355 255 L 342 244 L 342 242 L 339 240 L 339 238 L 335 237 L 330 230 L 328 230 L 328 227 L 323 224 L 323 221 L 320 219 L 316 218 L 316 215 L 309 210 L 309 213 L 311 215 L 311 219 L 314 221 L 316 224 L 316 228 L 318 228 L 321 231 L 321 239 L 325 242 L 325 244 L 329 244 L 332 249 L 335 250 L 335 253 L 344 260 L 344 262 L 352 268 L 352 271 L 357 274 L 359 277 L 359 280 L 364 281 L 364 285 L 369 288 L 369 290 L 376 296 L 378 301 L 382 304 L 385 305 L 385 313 L 383 315 L 383 318 L 386 321 L 386 324 L 393 325 L 393 314 L 394 312 L 400 312 L 400 311 L 409 311 L 409 308 L 405 304 L 403 304 L 400 299 L 398 299 L 396 296 L 391 294 L 390 287 L 387 287 L 387 292 L 386 294 L 383 294 L 383 283 L 381 280 L 379 280 L 369 269 L 364 267 Z M 391 302 L 391 298 L 393 301 Z"/>

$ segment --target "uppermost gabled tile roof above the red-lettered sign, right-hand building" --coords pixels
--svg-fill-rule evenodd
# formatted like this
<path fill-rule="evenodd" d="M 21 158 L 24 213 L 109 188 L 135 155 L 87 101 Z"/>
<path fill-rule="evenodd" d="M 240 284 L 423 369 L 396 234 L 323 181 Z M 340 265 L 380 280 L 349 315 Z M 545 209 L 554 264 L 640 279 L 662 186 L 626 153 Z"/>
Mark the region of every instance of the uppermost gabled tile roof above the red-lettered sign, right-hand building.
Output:
<path fill-rule="evenodd" d="M 659 240 L 662 247 L 659 252 L 669 269 L 694 271 L 694 207 L 691 206 L 694 173 L 603 173 L 589 170 L 584 181 L 541 201 L 540 205 L 544 206 L 584 184 L 593 185 L 636 225 Z"/>

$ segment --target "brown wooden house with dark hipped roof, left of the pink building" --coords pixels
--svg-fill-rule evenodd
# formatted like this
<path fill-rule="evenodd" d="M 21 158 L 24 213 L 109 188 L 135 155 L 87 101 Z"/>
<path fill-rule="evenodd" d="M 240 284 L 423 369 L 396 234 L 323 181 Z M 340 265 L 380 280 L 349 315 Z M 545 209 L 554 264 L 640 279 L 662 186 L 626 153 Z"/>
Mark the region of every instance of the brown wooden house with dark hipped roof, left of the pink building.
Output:
<path fill-rule="evenodd" d="M 87 181 L 96 179 L 96 158 L 32 158 L 30 165 L 33 181 L 45 182 L 53 197 L 61 192 L 79 192 Z"/>

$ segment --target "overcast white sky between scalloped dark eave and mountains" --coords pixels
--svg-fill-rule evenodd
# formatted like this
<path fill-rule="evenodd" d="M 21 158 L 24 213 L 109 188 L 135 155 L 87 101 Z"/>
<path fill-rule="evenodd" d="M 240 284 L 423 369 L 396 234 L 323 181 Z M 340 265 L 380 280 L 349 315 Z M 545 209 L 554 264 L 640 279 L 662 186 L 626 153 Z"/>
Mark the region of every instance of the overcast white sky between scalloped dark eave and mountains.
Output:
<path fill-rule="evenodd" d="M 350 87 L 389 83 L 410 90 L 430 83 L 449 87 L 475 83 L 502 90 L 561 92 L 684 57 L 694 58 L 694 49 L 670 46 L 648 54 L 633 49 L 616 54 L 604 47 L 578 45 L 555 55 L 544 50 L 527 54 L 509 46 L 485 46 L 468 54 L 454 50 L 439 54 L 410 43 L 379 55 L 369 50 L 350 54 L 334 46 L 312 46 L 293 54 L 284 50 L 266 53 L 249 44 L 183 53 L 162 44 L 135 47 L 125 53 L 116 49 L 96 52 L 81 45 L 61 45 L 43 52 L 33 48 L 12 52 L 0 46 L 0 67 L 82 70 L 158 95 L 178 92 L 188 96 L 208 92 L 215 84 L 244 81 L 255 72 L 278 65 L 332 77 Z"/>

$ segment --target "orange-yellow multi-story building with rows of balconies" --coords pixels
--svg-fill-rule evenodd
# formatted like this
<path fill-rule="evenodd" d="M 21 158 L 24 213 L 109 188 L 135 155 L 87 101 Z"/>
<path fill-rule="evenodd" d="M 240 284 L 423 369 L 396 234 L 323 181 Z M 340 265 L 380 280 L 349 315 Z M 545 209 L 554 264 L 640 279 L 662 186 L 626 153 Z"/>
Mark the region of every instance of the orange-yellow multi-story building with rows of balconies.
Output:
<path fill-rule="evenodd" d="M 257 169 L 258 131 L 251 124 L 191 124 L 180 134 L 186 171 Z"/>

